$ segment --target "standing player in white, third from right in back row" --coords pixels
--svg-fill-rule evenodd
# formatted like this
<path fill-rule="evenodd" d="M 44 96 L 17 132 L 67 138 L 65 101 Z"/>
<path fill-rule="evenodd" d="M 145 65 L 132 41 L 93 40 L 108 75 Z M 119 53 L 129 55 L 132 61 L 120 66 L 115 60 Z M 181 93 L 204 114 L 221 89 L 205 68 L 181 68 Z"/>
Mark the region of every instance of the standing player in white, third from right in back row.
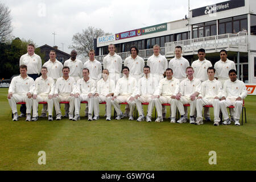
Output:
<path fill-rule="evenodd" d="M 170 60 L 168 68 L 171 68 L 174 71 L 174 77 L 177 78 L 180 82 L 184 80 L 186 75 L 186 68 L 189 67 L 189 62 L 182 55 L 181 46 L 175 47 L 175 57 Z"/>

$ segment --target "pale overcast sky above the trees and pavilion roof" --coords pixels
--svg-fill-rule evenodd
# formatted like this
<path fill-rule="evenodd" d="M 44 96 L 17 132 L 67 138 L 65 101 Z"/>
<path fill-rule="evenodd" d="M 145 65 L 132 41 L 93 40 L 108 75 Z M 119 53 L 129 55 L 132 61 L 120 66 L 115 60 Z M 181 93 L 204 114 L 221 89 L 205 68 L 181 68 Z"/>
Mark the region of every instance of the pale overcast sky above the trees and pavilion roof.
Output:
<path fill-rule="evenodd" d="M 225 0 L 190 0 L 190 9 Z M 55 45 L 70 53 L 72 36 L 88 26 L 112 34 L 171 22 L 188 14 L 188 0 L 0 0 L 11 10 L 13 35 L 37 46 Z"/>

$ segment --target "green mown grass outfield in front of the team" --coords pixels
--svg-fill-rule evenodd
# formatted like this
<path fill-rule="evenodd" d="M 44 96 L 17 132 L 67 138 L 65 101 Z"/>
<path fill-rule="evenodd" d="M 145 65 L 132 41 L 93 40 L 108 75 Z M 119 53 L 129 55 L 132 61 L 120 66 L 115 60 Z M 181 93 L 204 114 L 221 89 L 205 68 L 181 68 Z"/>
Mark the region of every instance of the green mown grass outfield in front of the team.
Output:
<path fill-rule="evenodd" d="M 11 122 L 7 89 L 1 88 L 0 170 L 255 170 L 256 96 L 245 103 L 243 126 L 105 121 L 103 112 L 93 122 Z M 38 164 L 39 151 L 46 152 L 46 165 Z M 216 165 L 208 163 L 210 151 L 217 153 Z"/>

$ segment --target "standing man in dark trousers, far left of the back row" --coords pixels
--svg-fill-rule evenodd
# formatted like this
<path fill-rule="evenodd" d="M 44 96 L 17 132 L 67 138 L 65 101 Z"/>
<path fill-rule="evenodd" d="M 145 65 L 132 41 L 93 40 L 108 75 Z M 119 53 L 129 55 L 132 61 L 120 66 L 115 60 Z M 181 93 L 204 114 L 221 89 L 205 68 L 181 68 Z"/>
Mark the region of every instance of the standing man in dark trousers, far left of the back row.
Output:
<path fill-rule="evenodd" d="M 27 75 L 29 77 L 34 80 L 39 77 L 42 67 L 42 59 L 39 55 L 36 55 L 34 44 L 28 44 L 27 53 L 20 56 L 19 65 L 27 65 Z M 20 107 L 20 112 L 20 117 L 26 116 L 26 105 Z"/>

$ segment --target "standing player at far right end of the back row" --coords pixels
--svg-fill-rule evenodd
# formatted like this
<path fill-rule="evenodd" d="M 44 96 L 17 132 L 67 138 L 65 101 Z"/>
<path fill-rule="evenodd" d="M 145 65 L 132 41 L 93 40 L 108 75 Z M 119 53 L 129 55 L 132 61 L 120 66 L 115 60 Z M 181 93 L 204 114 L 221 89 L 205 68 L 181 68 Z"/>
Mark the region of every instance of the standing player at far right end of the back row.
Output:
<path fill-rule="evenodd" d="M 218 78 L 218 81 L 220 81 L 223 86 L 224 82 L 226 80 L 229 80 L 230 69 L 236 70 L 236 64 L 234 63 L 234 61 L 231 61 L 227 58 L 228 52 L 226 52 L 226 50 L 224 49 L 220 51 L 220 57 L 221 60 L 217 61 L 214 64 L 214 68 L 216 69 L 215 77 Z"/>

